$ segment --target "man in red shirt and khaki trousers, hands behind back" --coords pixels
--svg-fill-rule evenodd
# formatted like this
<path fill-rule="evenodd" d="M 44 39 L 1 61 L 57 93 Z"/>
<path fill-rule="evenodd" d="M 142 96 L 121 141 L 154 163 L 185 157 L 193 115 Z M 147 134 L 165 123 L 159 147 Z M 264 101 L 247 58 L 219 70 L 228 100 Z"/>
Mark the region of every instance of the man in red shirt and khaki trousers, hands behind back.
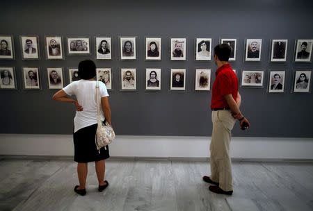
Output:
<path fill-rule="evenodd" d="M 232 49 L 228 44 L 218 44 L 214 48 L 214 60 L 218 67 L 212 87 L 212 137 L 210 144 L 211 176 L 203 180 L 214 185 L 211 192 L 232 195 L 232 163 L 230 160 L 230 137 L 236 119 L 242 129 L 250 126 L 248 119 L 239 110 L 241 96 L 238 92 L 238 78 L 228 59 Z"/>

